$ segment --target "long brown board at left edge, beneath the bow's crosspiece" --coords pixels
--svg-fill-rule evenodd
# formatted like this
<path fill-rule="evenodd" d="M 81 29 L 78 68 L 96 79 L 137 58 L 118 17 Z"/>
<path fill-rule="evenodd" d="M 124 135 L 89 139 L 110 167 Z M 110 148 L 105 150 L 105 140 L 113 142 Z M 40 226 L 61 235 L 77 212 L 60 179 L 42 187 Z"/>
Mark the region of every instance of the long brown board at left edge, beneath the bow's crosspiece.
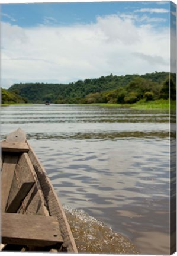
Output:
<path fill-rule="evenodd" d="M 5 212 L 18 156 L 5 156 L 1 172 L 1 210 Z"/>

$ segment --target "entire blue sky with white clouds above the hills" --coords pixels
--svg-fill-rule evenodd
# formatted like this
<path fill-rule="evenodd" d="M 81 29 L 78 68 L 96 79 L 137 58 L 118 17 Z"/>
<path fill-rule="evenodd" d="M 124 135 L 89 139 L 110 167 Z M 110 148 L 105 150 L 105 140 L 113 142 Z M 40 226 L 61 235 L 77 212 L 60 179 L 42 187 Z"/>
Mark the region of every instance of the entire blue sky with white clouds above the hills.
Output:
<path fill-rule="evenodd" d="M 1 87 L 170 71 L 170 1 L 1 4 Z"/>

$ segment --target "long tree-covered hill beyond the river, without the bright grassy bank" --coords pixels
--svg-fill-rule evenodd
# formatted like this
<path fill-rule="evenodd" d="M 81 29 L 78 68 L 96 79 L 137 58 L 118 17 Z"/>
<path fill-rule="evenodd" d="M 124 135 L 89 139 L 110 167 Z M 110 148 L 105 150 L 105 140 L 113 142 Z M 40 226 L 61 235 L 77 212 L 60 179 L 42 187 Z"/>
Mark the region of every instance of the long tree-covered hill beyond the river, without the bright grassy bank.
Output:
<path fill-rule="evenodd" d="M 28 103 L 131 103 L 140 100 L 146 92 L 149 93 L 149 98 L 160 97 L 163 83 L 168 78 L 168 72 L 147 73 L 141 76 L 111 74 L 70 84 L 14 84 L 8 91 L 27 98 Z"/>

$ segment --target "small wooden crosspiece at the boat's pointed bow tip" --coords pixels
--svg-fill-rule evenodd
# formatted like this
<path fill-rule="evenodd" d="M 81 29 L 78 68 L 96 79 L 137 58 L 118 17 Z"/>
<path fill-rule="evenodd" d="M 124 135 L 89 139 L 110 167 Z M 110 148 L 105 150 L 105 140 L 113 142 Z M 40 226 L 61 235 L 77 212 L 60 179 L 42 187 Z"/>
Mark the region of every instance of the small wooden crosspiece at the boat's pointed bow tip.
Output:
<path fill-rule="evenodd" d="M 29 147 L 26 142 L 1 142 L 2 152 L 28 152 Z"/>

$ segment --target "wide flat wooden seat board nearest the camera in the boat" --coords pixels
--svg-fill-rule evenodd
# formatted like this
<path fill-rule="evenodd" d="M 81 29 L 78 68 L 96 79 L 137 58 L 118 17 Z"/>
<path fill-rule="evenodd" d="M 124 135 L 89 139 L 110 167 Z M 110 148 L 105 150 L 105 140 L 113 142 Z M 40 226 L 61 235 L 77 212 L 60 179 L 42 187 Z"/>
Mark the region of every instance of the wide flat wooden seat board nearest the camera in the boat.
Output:
<path fill-rule="evenodd" d="M 2 213 L 1 221 L 4 244 L 51 246 L 63 243 L 56 217 Z"/>

